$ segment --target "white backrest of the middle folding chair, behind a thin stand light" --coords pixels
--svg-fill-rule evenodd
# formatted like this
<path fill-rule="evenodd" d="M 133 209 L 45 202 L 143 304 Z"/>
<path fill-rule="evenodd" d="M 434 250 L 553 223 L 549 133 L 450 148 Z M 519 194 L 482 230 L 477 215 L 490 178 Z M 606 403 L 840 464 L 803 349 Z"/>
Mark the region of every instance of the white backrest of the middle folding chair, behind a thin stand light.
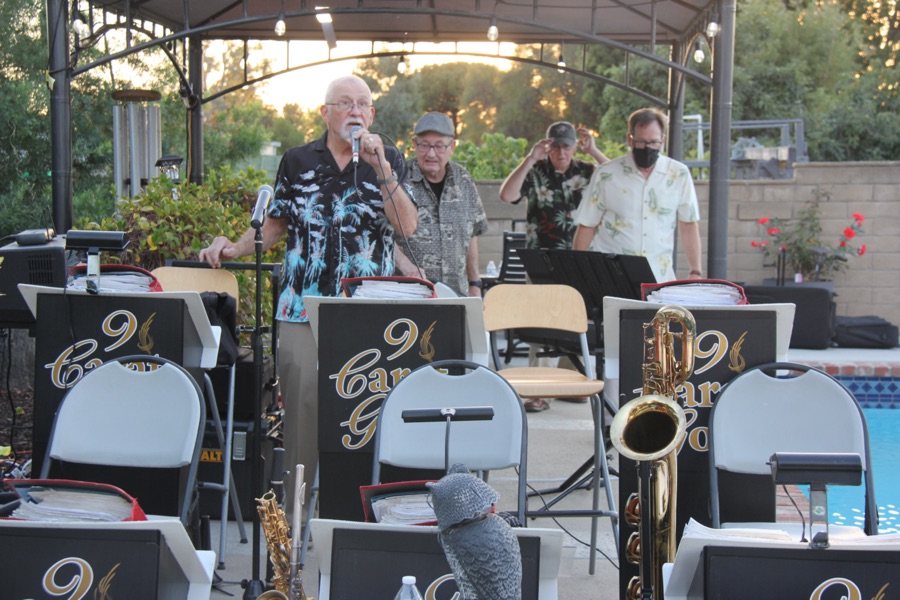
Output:
<path fill-rule="evenodd" d="M 450 375 L 438 368 L 465 366 Z M 466 361 L 441 361 L 419 367 L 394 386 L 381 407 L 375 461 L 398 467 L 444 469 L 446 421 L 404 423 L 404 410 L 491 406 L 489 421 L 454 421 L 450 425 L 450 464 L 471 470 L 520 465 L 527 433 L 525 412 L 515 390 L 495 371 Z M 458 372 L 458 371 L 455 371 Z"/>

